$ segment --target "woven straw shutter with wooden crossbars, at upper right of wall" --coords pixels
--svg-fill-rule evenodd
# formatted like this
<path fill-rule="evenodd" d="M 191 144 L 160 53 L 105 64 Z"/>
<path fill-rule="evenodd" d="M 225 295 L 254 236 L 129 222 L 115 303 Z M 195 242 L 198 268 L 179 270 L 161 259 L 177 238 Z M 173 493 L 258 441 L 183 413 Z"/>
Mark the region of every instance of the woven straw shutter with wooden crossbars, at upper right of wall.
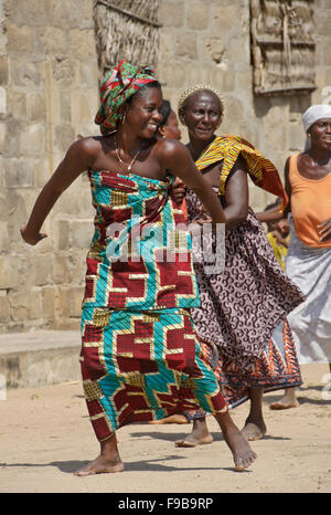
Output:
<path fill-rule="evenodd" d="M 250 0 L 255 94 L 300 94 L 314 84 L 313 0 Z"/>

